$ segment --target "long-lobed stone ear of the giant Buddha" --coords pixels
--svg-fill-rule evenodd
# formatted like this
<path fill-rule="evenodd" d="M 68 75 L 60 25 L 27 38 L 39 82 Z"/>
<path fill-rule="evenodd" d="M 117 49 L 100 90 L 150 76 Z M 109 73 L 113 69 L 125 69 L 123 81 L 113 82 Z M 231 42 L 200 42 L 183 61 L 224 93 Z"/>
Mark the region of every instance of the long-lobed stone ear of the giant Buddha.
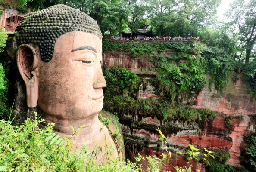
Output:
<path fill-rule="evenodd" d="M 38 100 L 38 56 L 35 49 L 28 45 L 22 44 L 17 51 L 17 65 L 26 85 L 27 105 L 34 108 Z"/>

